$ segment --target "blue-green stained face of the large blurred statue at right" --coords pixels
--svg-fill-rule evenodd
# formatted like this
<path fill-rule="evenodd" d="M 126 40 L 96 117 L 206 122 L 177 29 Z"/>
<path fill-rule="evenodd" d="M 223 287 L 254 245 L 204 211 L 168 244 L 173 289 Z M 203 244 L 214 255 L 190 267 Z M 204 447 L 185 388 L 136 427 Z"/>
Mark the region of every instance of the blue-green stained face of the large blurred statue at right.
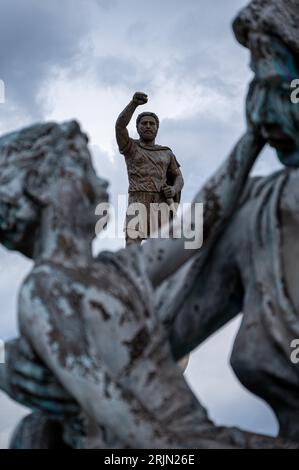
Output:
<path fill-rule="evenodd" d="M 252 51 L 254 71 L 247 97 L 247 118 L 275 148 L 282 164 L 299 167 L 299 105 L 291 101 L 291 82 L 299 78 L 295 58 L 279 40 L 267 37 Z"/>

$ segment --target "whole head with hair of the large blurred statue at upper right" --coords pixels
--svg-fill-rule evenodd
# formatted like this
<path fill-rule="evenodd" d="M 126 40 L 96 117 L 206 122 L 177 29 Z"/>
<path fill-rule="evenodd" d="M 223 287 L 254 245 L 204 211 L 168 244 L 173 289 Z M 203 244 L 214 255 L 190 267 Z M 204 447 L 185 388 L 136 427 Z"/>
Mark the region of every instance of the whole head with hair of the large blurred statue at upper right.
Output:
<path fill-rule="evenodd" d="M 298 25 L 299 0 L 253 0 L 233 23 L 254 72 L 247 119 L 288 167 L 299 167 L 299 104 L 291 101 L 291 83 L 299 78 Z"/>

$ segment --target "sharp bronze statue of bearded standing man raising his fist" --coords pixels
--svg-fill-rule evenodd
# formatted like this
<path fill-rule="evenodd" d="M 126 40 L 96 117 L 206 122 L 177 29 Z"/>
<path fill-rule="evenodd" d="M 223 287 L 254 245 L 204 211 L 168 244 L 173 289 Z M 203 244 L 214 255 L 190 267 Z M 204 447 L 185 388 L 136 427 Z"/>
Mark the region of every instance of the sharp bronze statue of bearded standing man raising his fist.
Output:
<path fill-rule="evenodd" d="M 124 155 L 129 179 L 129 205 L 126 215 L 126 244 L 141 243 L 150 238 L 173 216 L 173 203 L 178 203 L 184 180 L 180 165 L 169 147 L 156 145 L 159 119 L 145 112 L 137 117 L 139 139 L 131 139 L 127 126 L 140 105 L 147 103 L 145 93 L 135 93 L 132 101 L 116 121 L 116 140 Z M 132 224 L 133 219 L 137 224 Z M 132 210 L 129 210 L 129 209 Z M 160 214 L 157 213 L 159 211 Z M 131 221 L 131 223 L 130 223 Z"/>

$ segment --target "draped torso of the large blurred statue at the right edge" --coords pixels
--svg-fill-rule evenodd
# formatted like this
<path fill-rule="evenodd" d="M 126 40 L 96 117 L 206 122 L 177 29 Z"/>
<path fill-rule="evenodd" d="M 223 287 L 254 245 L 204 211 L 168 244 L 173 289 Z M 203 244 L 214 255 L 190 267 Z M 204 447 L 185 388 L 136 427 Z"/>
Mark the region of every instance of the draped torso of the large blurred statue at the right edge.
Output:
<path fill-rule="evenodd" d="M 273 408 L 281 434 L 297 439 L 299 364 L 292 363 L 290 346 L 299 338 L 296 181 L 294 173 L 281 185 L 277 211 L 272 190 L 266 191 L 249 198 L 232 222 L 245 297 L 231 363 L 243 385 Z"/>

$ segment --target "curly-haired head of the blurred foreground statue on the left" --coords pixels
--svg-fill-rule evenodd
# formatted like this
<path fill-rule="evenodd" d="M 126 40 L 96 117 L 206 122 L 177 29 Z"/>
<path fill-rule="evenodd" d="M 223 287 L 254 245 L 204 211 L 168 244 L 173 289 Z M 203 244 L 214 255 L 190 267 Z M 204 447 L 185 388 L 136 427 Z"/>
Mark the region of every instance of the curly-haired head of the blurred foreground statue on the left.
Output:
<path fill-rule="evenodd" d="M 94 233 L 95 206 L 107 201 L 87 136 L 75 121 L 35 125 L 0 139 L 0 242 L 28 257 L 39 237 L 42 211 L 72 217 L 74 231 Z M 60 217 L 61 218 L 61 217 Z"/>

